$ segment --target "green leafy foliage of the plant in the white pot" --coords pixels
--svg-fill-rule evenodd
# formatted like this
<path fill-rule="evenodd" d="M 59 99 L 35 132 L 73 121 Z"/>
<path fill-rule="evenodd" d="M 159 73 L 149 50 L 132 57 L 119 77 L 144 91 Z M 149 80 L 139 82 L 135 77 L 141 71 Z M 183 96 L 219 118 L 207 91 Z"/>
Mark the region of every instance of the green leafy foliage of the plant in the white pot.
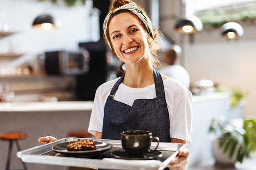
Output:
<path fill-rule="evenodd" d="M 223 116 L 212 119 L 209 132 L 215 133 L 219 147 L 224 153 L 228 152 L 231 159 L 237 156 L 238 162 L 250 156 L 256 150 L 256 122 L 255 119 L 244 119 L 243 125 L 227 124 Z"/>

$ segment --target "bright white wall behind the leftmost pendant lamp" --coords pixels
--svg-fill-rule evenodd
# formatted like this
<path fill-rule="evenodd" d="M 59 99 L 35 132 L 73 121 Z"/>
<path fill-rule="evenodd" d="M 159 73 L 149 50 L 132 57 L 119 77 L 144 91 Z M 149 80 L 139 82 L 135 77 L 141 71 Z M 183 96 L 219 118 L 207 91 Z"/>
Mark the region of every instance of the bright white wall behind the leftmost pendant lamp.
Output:
<path fill-rule="evenodd" d="M 53 5 L 50 1 L 1 0 L 0 13 L 5 15 L 9 31 L 15 34 L 0 39 L 0 53 L 9 53 L 10 43 L 13 53 L 25 53 L 21 58 L 33 58 L 46 51 L 77 50 L 78 42 L 89 41 L 92 35 L 99 32 L 96 29 L 93 33 L 90 32 L 91 7 L 90 0 L 86 5 L 75 7 L 67 7 L 64 4 Z M 58 29 L 44 31 L 32 27 L 33 20 L 45 13 L 57 19 L 60 26 Z M 10 59 L 8 62 L 3 60 L 7 59 L 1 59 L 0 67 L 10 63 Z"/>

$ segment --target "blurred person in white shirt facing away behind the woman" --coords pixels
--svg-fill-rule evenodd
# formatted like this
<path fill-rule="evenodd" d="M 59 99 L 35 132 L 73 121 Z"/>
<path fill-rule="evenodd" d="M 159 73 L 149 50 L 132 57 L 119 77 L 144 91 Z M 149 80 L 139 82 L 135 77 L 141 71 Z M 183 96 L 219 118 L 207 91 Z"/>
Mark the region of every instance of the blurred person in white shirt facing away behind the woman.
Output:
<path fill-rule="evenodd" d="M 187 70 L 181 65 L 177 64 L 177 59 L 181 53 L 181 48 L 178 45 L 172 45 L 164 53 L 165 67 L 159 72 L 167 77 L 174 78 L 187 89 L 189 89 L 190 77 Z"/>

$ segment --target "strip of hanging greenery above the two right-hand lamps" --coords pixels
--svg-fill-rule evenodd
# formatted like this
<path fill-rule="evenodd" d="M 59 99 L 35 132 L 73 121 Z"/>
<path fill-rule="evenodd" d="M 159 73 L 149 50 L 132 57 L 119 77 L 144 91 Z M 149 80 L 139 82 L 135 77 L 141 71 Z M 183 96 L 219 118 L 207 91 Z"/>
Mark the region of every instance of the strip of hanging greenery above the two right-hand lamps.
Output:
<path fill-rule="evenodd" d="M 244 21 L 256 18 L 256 5 L 242 9 L 207 10 L 198 12 L 197 17 L 202 21 L 204 28 L 220 28 L 224 23 L 230 21 Z"/>

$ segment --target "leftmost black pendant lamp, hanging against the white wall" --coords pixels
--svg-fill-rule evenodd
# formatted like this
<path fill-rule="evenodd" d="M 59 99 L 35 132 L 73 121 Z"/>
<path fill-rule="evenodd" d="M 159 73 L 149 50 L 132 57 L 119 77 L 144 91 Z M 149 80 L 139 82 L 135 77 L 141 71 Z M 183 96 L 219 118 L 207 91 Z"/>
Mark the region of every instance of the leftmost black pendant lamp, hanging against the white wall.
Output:
<path fill-rule="evenodd" d="M 56 28 L 54 18 L 51 15 L 39 15 L 33 22 L 33 27 L 50 30 Z"/>

